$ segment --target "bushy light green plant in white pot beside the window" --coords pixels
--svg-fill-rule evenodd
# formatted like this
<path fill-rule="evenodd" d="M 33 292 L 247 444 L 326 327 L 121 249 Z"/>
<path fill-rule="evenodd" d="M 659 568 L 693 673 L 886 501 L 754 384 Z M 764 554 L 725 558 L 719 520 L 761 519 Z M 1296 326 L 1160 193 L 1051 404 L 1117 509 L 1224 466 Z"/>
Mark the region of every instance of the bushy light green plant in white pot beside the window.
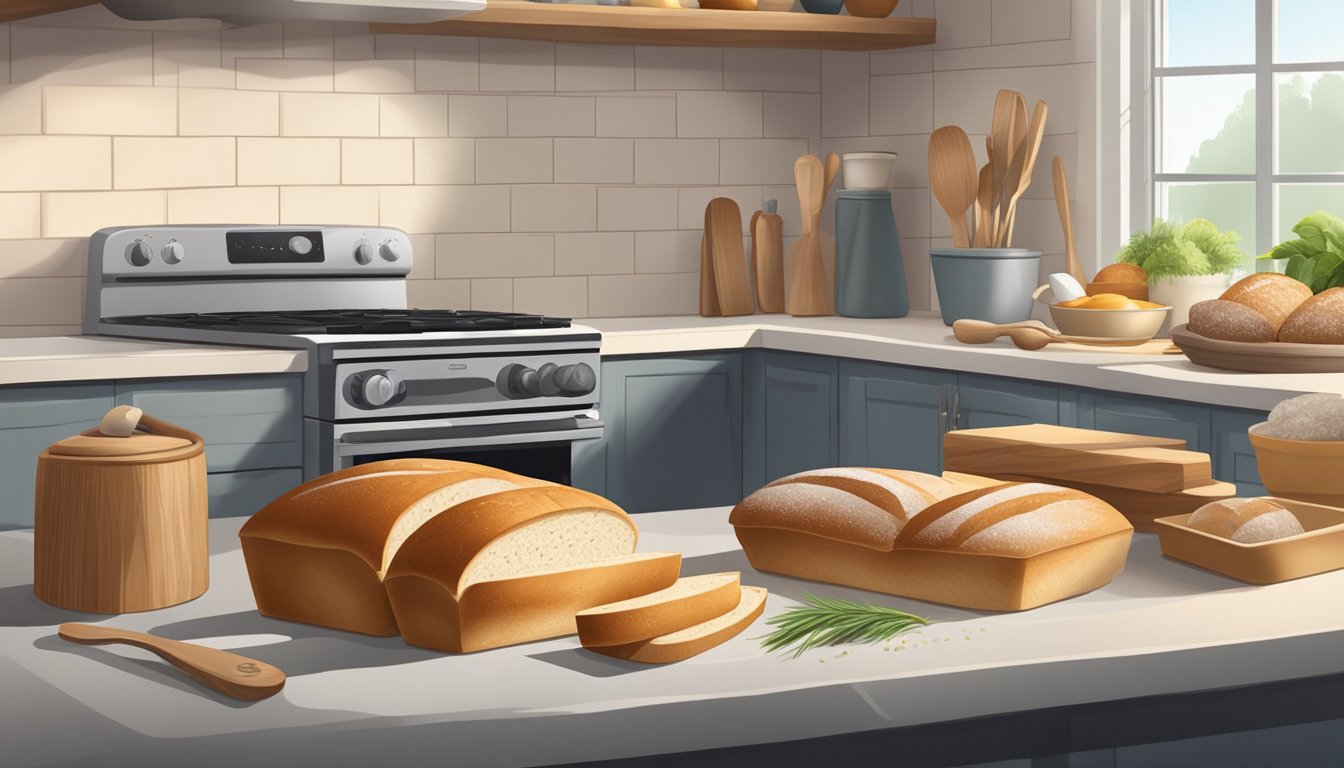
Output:
<path fill-rule="evenodd" d="M 1185 225 L 1156 219 L 1153 229 L 1129 238 L 1116 261 L 1148 273 L 1148 299 L 1172 308 L 1168 327 L 1175 328 L 1189 319 L 1192 305 L 1222 296 L 1232 270 L 1246 265 L 1239 239 L 1208 219 Z"/>

